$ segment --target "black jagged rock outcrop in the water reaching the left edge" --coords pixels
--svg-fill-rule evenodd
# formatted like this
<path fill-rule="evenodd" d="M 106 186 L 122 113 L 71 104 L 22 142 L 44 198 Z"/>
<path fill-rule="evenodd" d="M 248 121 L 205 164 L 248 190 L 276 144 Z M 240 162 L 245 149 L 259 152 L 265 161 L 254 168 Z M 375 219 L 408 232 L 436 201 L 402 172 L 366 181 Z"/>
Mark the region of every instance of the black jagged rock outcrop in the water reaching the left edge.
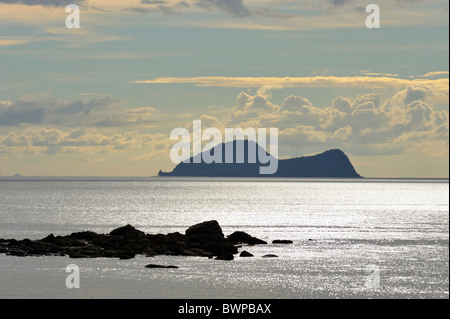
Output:
<path fill-rule="evenodd" d="M 145 234 L 131 225 L 126 225 L 109 234 L 83 231 L 67 236 L 50 234 L 38 240 L 0 239 L 0 254 L 119 259 L 131 259 L 136 255 L 172 255 L 233 260 L 241 244 L 256 245 L 267 242 L 241 231 L 225 237 L 219 223 L 211 220 L 189 227 L 185 234 Z"/>

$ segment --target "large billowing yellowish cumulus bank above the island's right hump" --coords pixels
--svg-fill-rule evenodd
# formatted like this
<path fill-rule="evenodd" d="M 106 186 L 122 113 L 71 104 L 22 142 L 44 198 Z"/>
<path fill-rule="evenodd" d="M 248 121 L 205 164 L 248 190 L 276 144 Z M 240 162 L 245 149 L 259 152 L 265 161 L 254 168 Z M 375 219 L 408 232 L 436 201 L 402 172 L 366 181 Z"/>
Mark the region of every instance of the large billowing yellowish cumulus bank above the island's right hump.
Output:
<path fill-rule="evenodd" d="M 422 143 L 428 152 L 435 147 L 441 154 L 442 145 L 448 146 L 449 114 L 429 103 L 434 94 L 430 87 L 414 85 L 385 99 L 366 93 L 352 99 L 338 96 L 329 106 L 316 106 L 300 95 L 276 104 L 266 90 L 255 95 L 241 92 L 228 116 L 214 118 L 214 123 L 222 130 L 276 127 L 280 155 L 288 157 L 330 148 L 361 156 L 393 155 L 417 150 Z"/>

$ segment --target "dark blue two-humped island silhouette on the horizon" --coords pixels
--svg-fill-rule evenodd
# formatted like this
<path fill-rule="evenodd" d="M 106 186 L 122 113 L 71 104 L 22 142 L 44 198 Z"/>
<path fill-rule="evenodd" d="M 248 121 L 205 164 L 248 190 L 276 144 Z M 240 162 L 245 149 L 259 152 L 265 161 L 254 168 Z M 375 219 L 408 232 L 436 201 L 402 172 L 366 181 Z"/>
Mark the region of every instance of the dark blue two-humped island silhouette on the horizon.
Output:
<path fill-rule="evenodd" d="M 189 159 L 189 162 L 179 163 L 171 172 L 159 171 L 158 176 L 185 176 L 185 177 L 304 177 L 304 178 L 362 178 L 359 175 L 347 155 L 339 150 L 332 149 L 313 156 L 295 157 L 289 159 L 278 159 L 278 170 L 274 174 L 260 174 L 260 167 L 269 165 L 259 162 L 248 163 L 248 149 L 255 147 L 258 151 L 265 152 L 257 143 L 245 140 L 244 142 L 244 163 L 225 163 L 226 143 L 221 143 L 222 163 L 205 163 L 203 154 L 210 152 L 213 154 L 214 148 L 201 153 L 202 159 L 194 161 L 197 154 Z M 236 140 L 233 142 L 233 154 L 236 156 Z M 269 153 L 266 155 L 272 157 Z M 272 157 L 273 159 L 273 157 Z M 195 163 L 199 162 L 199 163 Z"/>

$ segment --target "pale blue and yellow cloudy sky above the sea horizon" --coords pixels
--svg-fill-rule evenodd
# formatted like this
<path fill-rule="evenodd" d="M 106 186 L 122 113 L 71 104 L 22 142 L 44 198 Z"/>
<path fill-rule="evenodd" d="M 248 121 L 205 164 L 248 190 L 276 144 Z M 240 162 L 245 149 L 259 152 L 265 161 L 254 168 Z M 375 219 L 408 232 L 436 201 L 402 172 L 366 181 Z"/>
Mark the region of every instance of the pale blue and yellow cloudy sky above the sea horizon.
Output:
<path fill-rule="evenodd" d="M 0 175 L 154 176 L 175 166 L 171 131 L 201 120 L 278 128 L 280 158 L 338 148 L 365 177 L 448 178 L 448 9 L 0 0 Z"/>

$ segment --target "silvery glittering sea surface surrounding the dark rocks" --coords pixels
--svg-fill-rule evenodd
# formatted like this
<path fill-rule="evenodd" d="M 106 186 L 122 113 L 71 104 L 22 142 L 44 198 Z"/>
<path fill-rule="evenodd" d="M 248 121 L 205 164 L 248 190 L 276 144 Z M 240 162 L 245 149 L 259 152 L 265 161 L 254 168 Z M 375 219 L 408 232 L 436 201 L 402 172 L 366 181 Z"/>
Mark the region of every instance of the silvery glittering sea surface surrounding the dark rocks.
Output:
<path fill-rule="evenodd" d="M 269 244 L 233 261 L 3 254 L 0 298 L 449 298 L 448 180 L 0 179 L 0 238 L 184 233 L 212 219 Z M 79 289 L 65 285 L 69 264 Z"/>

